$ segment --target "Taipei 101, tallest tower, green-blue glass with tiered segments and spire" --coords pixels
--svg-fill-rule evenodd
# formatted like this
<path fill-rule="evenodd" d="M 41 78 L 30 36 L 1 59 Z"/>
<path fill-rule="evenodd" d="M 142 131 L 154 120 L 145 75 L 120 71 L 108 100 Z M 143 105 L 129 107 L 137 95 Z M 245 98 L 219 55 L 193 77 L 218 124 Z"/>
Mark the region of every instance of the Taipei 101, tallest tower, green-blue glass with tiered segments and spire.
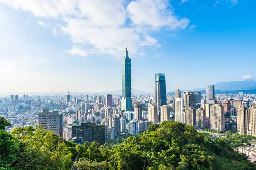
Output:
<path fill-rule="evenodd" d="M 125 43 L 125 55 L 122 58 L 122 111 L 132 111 L 131 102 L 131 59 L 128 57 Z"/>

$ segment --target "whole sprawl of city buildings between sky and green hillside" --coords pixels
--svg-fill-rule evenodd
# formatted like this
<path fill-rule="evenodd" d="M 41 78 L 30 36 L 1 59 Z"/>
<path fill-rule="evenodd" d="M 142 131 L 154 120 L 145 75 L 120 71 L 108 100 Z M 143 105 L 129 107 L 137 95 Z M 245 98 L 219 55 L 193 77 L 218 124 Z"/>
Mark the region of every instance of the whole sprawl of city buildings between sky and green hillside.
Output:
<path fill-rule="evenodd" d="M 214 85 L 206 94 L 166 94 L 165 74 L 155 74 L 154 95 L 132 95 L 131 59 L 125 48 L 122 58 L 122 95 L 28 96 L 0 98 L 0 115 L 13 127 L 37 126 L 77 143 L 114 139 L 124 133 L 137 135 L 150 124 L 175 119 L 198 128 L 233 130 L 256 136 L 255 96 L 215 95 Z M 226 118 L 226 119 L 225 119 Z"/>

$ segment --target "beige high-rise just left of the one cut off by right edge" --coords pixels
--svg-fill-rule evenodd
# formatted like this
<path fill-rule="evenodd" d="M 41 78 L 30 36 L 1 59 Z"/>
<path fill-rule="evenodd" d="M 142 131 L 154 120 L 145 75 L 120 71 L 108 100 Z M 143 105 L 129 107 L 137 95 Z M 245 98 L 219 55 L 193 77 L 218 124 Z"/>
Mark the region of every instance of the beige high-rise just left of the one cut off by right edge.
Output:
<path fill-rule="evenodd" d="M 237 133 L 247 135 L 247 132 L 249 131 L 250 109 L 247 109 L 244 105 L 240 105 L 236 111 Z"/>

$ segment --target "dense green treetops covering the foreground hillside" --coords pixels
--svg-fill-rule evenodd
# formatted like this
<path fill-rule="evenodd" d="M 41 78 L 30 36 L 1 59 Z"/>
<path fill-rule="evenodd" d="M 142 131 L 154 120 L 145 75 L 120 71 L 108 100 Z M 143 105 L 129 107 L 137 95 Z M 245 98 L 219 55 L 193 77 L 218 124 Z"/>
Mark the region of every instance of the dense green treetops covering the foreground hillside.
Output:
<path fill-rule="evenodd" d="M 19 152 L 12 153 L 16 161 L 9 163 L 15 169 L 256 170 L 225 139 L 212 139 L 180 122 L 150 125 L 146 132 L 113 146 L 97 142 L 76 145 L 40 128 L 25 135 L 24 131 L 21 138 L 15 134 L 20 138 L 16 141 Z"/>

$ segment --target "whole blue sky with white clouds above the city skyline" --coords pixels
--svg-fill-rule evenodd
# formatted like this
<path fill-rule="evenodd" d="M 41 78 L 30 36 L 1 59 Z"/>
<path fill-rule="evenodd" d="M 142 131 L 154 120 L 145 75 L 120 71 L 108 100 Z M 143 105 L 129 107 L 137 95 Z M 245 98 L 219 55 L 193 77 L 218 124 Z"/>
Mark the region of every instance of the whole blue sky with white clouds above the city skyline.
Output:
<path fill-rule="evenodd" d="M 254 78 L 254 0 L 0 0 L 0 92 L 167 91 Z M 242 78 L 244 77 L 244 78 Z"/>

